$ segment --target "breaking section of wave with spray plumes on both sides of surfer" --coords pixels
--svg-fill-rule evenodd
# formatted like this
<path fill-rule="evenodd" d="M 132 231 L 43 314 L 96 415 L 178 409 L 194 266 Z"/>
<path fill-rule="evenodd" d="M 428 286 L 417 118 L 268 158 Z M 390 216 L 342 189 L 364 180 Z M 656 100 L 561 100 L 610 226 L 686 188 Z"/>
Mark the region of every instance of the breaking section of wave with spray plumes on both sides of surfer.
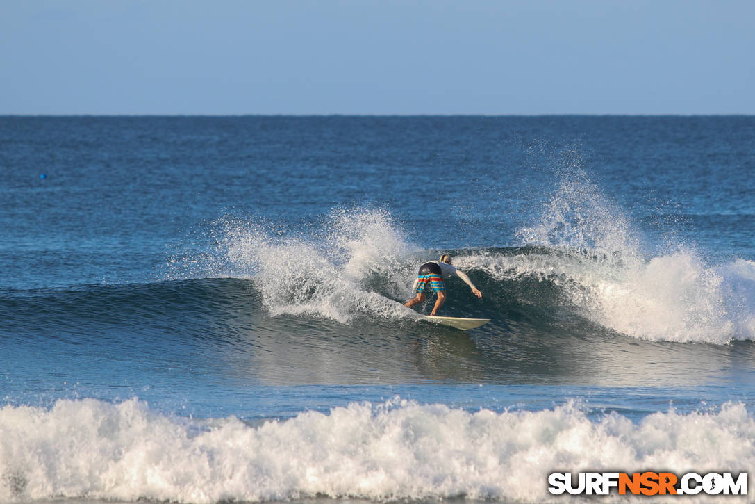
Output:
<path fill-rule="evenodd" d="M 411 319 L 401 304 L 418 264 L 451 252 L 485 299 L 450 280 L 445 314 L 501 325 L 513 317 L 546 330 L 562 314 L 649 341 L 755 339 L 753 261 L 710 265 L 683 246 L 646 257 L 629 221 L 573 173 L 541 221 L 519 230 L 520 247 L 422 250 L 387 212 L 365 209 L 334 211 L 310 233 L 230 218 L 216 229 L 212 251 L 184 260 L 172 275 L 250 280 L 274 316 Z"/>

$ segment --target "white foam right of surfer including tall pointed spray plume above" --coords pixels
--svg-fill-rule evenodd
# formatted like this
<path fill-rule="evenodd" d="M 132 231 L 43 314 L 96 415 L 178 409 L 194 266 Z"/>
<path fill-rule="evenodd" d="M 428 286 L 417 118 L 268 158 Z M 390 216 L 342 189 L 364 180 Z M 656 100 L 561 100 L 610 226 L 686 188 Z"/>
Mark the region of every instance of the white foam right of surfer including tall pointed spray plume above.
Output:
<path fill-rule="evenodd" d="M 572 167 L 522 245 L 556 255 L 480 258 L 499 278 L 534 275 L 562 287 L 585 317 L 639 339 L 726 343 L 755 339 L 755 267 L 704 264 L 681 246 L 644 258 L 621 209 Z"/>

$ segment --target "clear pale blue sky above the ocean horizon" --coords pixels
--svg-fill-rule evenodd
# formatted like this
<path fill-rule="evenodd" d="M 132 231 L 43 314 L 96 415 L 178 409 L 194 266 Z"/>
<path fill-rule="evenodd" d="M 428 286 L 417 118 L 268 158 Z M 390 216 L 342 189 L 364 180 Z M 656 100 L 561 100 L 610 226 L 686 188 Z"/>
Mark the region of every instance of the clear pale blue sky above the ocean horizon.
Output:
<path fill-rule="evenodd" d="M 750 0 L 0 0 L 0 114 L 753 114 Z"/>

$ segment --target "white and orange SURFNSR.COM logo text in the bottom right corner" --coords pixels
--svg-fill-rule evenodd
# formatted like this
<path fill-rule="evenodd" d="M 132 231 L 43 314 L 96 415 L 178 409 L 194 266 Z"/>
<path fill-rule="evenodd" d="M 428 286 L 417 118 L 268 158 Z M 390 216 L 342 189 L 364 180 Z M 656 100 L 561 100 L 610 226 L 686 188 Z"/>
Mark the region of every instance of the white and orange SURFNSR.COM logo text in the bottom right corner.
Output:
<path fill-rule="evenodd" d="M 569 472 L 554 472 L 548 476 L 548 491 L 553 495 L 747 495 L 747 473 L 735 478 L 730 472 L 710 472 L 698 475 L 688 472 L 677 476 L 671 472 L 580 472 L 572 478 Z"/>

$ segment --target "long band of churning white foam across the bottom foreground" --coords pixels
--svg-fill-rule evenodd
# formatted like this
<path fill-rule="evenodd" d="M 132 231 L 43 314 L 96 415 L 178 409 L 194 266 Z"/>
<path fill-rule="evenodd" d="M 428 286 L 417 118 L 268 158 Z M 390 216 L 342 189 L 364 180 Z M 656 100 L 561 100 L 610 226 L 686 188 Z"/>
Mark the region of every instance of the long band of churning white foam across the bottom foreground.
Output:
<path fill-rule="evenodd" d="M 233 417 L 162 416 L 137 400 L 60 400 L 51 410 L 0 409 L 0 432 L 5 502 L 204 504 L 308 496 L 542 502 L 554 471 L 755 467 L 755 422 L 742 404 L 655 413 L 634 424 L 615 413 L 590 420 L 575 404 L 468 413 L 396 399 L 251 427 Z"/>

